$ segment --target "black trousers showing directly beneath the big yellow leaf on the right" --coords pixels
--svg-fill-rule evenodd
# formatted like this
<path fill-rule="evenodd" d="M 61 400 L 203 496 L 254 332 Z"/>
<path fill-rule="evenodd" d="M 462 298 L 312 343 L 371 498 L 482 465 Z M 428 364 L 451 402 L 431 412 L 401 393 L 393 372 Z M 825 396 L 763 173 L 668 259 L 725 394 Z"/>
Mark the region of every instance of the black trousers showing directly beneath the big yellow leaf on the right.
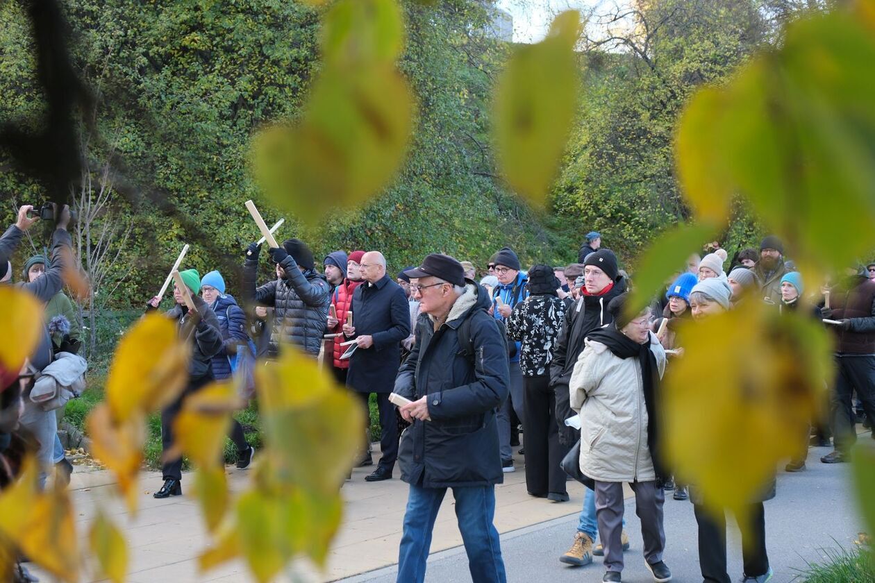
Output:
<path fill-rule="evenodd" d="M 715 517 L 701 504 L 694 504 L 699 526 L 699 567 L 704 583 L 732 583 L 726 573 L 726 516 Z M 748 507 L 751 514 L 751 532 L 741 538 L 741 555 L 748 577 L 759 577 L 768 571 L 766 552 L 766 510 L 763 503 Z"/>

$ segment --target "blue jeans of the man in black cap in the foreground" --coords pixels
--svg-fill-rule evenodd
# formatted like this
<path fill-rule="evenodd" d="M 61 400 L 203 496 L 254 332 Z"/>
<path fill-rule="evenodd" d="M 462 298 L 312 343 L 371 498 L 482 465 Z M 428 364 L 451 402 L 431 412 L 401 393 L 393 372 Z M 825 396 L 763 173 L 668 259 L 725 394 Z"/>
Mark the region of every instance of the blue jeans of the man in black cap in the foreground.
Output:
<path fill-rule="evenodd" d="M 398 583 L 422 583 L 425 561 L 429 558 L 431 531 L 445 488 L 423 488 L 410 484 L 404 531 L 398 550 Z M 453 488 L 458 531 L 468 555 L 468 570 L 473 583 L 505 583 L 504 560 L 498 531 L 495 530 L 495 487 Z"/>

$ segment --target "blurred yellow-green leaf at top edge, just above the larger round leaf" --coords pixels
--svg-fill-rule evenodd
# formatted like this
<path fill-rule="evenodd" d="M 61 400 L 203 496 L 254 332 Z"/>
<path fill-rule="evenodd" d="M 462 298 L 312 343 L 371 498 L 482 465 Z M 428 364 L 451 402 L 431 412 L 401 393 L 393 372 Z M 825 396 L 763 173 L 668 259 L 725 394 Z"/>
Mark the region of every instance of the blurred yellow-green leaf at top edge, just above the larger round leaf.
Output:
<path fill-rule="evenodd" d="M 341 0 L 323 19 L 322 54 L 329 66 L 393 65 L 403 45 L 395 0 Z"/>

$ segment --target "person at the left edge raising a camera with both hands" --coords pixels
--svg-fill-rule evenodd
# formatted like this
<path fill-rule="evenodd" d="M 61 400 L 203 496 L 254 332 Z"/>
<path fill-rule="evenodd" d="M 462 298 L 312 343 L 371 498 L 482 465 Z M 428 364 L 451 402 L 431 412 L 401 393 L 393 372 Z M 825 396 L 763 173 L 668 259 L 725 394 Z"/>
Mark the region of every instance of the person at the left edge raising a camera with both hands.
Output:
<path fill-rule="evenodd" d="M 70 233 L 66 232 L 66 227 L 70 224 L 70 209 L 64 205 L 61 212 L 58 213 L 55 212 L 57 207 L 52 205 L 51 210 L 51 214 L 45 212 L 46 205 L 44 205 L 41 213 L 42 216 L 51 219 L 57 217 L 55 230 L 52 233 L 52 256 L 49 267 L 33 281 L 23 281 L 18 284 L 19 288 L 24 289 L 44 304 L 52 300 L 52 297 L 64 287 L 63 275 L 66 269 L 66 256 L 72 257 L 73 255 L 72 239 L 70 239 Z M 12 253 L 21 244 L 21 240 L 24 239 L 25 232 L 38 220 L 41 220 L 41 216 L 34 215 L 32 205 L 24 205 L 18 209 L 18 219 L 15 225 L 10 226 L 0 237 L 0 256 L 7 258 L 12 256 Z M 3 265 L 0 265 L 0 284 L 9 283 L 11 275 L 12 264 L 7 259 Z M 44 327 L 43 337 L 39 341 L 37 350 L 30 357 L 31 371 L 42 371 L 52 363 L 52 358 L 52 337 L 48 328 Z M 22 392 L 25 407 L 21 415 L 21 425 L 38 441 L 39 485 L 42 487 L 45 485 L 49 469 L 54 465 L 54 442 L 58 433 L 58 420 L 54 411 L 44 411 L 41 406 L 31 401 L 32 388 L 31 378 Z"/>

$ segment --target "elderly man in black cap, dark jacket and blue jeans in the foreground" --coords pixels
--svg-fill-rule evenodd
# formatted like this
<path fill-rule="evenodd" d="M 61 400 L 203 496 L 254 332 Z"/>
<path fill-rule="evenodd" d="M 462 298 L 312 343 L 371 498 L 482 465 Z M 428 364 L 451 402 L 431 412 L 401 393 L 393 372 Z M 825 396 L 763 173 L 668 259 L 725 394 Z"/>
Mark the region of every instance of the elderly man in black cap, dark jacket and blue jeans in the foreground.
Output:
<path fill-rule="evenodd" d="M 493 515 L 495 484 L 504 478 L 496 411 L 510 384 L 506 340 L 486 311 L 492 299 L 465 281 L 457 260 L 434 253 L 404 273 L 420 316 L 395 379 L 395 392 L 411 400 L 401 415 L 413 424 L 398 458 L 410 490 L 397 580 L 424 580 L 437 510 L 451 488 L 472 580 L 503 582 Z"/>

